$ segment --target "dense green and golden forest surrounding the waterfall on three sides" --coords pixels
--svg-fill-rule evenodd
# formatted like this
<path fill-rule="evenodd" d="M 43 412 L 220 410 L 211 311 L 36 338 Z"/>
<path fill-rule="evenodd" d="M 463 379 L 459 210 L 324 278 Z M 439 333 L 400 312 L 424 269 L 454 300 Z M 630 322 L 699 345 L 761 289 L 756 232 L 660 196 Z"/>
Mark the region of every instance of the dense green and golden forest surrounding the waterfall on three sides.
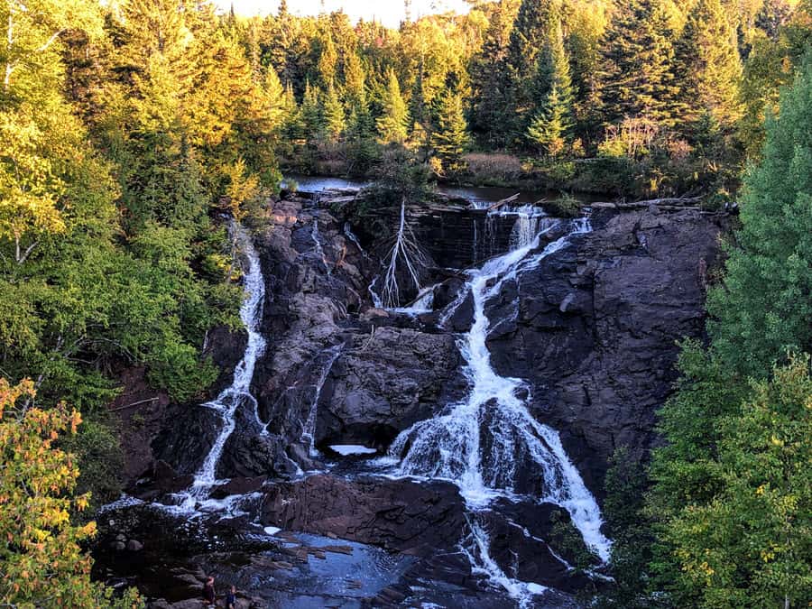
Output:
<path fill-rule="evenodd" d="M 608 477 L 615 583 L 597 602 L 806 606 L 812 5 L 470 4 L 395 30 L 284 0 L 263 18 L 205 0 L 5 0 L 0 604 L 139 604 L 91 584 L 79 549 L 94 533 L 81 512 L 120 492 L 117 374 L 143 366 L 173 401 L 198 399 L 218 374 L 209 331 L 239 323 L 228 218 L 262 222 L 282 172 L 394 164 L 737 202 L 665 442 L 651 462 L 619 450 Z"/>

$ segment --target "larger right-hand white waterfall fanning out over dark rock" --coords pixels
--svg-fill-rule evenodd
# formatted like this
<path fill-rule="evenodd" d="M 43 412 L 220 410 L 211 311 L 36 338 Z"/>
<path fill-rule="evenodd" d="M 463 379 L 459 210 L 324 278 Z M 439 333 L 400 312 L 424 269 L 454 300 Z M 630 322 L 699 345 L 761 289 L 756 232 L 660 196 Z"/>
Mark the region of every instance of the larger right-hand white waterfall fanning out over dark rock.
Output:
<path fill-rule="evenodd" d="M 485 509 L 495 497 L 510 499 L 522 494 L 523 490 L 518 488 L 519 470 L 528 464 L 536 466 L 535 474 L 543 483 L 539 500 L 566 509 L 586 545 L 606 561 L 611 543 L 600 531 L 602 519 L 595 498 L 567 457 L 558 432 L 535 420 L 528 411 L 527 398 L 523 397 L 529 394 L 527 384 L 497 374 L 486 345 L 491 325 L 485 310 L 488 300 L 499 295 L 506 281 L 538 267 L 550 254 L 567 245 L 572 235 L 589 230 L 586 218 L 577 220 L 568 235 L 549 243 L 540 252 L 543 233 L 468 272 L 463 293 L 473 297 L 474 323 L 460 337 L 459 347 L 466 360 L 469 394 L 464 401 L 449 405 L 442 415 L 401 432 L 390 455 L 400 458 L 400 475 L 455 482 L 474 512 Z M 454 307 L 455 302 L 449 307 Z M 487 536 L 484 531 L 474 533 L 478 564 L 500 583 L 504 575 L 494 571 L 493 560 L 487 557 Z M 511 594 L 529 589 L 521 582 L 501 583 Z"/>

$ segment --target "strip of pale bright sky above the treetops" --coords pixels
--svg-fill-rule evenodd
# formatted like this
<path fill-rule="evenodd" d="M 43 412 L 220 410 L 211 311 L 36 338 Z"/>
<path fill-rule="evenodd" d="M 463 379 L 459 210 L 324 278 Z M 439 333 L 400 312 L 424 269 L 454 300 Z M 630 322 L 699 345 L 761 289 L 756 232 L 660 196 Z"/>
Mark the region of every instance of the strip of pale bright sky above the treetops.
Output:
<path fill-rule="evenodd" d="M 215 4 L 227 10 L 234 3 L 237 14 L 253 16 L 255 14 L 276 14 L 279 0 L 215 0 Z M 321 0 L 288 0 L 288 10 L 293 14 L 318 14 Z M 343 9 L 354 22 L 363 17 L 365 20 L 377 21 L 390 27 L 397 27 L 403 19 L 402 0 L 324 0 L 327 12 Z M 463 0 L 412 0 L 411 15 L 419 17 L 429 13 L 442 13 L 448 10 L 463 13 L 467 5 Z"/>

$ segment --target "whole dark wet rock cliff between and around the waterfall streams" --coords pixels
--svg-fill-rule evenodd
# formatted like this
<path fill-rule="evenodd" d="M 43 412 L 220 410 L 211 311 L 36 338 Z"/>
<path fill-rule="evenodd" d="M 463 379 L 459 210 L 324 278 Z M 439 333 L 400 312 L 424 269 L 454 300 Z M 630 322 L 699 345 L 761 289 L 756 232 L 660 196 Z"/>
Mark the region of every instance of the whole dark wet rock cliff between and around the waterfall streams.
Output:
<path fill-rule="evenodd" d="M 374 308 L 368 289 L 379 263 L 355 245 L 343 218 L 304 198 L 274 204 L 255 240 L 267 348 L 254 372 L 256 402 L 236 412 L 217 466 L 218 477 L 235 480 L 215 494 L 255 492 L 252 514 L 263 525 L 421 560 L 454 556 L 447 567 L 467 569 L 463 578 L 473 576 L 460 544 L 481 527 L 506 573 L 577 591 L 583 572 L 550 542 L 554 524 L 570 526 L 569 516 L 539 501 L 543 484 L 526 479 L 532 475 L 517 476 L 516 490 L 526 495 L 472 512 L 454 484 L 370 475 L 364 458 L 339 459 L 329 448 L 363 445 L 383 456 L 401 431 L 466 396 L 457 333 L 470 327 L 472 306 L 462 298 L 464 274 L 453 269 L 505 251 L 512 221 L 489 224 L 483 213 L 462 209 L 409 216 L 442 267 L 429 270 L 438 282 L 435 310 L 411 315 Z M 627 446 L 643 457 L 657 441 L 656 411 L 676 378 L 677 342 L 703 333 L 708 269 L 720 261 L 726 219 L 697 209 L 598 206 L 591 222 L 591 232 L 505 281 L 487 301 L 487 346 L 498 374 L 527 383 L 531 413 L 558 430 L 600 499 L 614 449 Z M 559 233 L 553 226 L 542 246 Z M 442 327 L 439 309 L 449 302 L 459 306 Z M 224 369 L 220 388 L 244 343 L 239 333 L 209 337 L 208 353 Z M 165 396 L 159 403 L 138 442 L 126 445 L 131 482 L 152 468 L 152 486 L 134 489 L 147 499 L 188 486 L 218 429 L 210 409 L 167 407 Z M 144 448 L 150 438 L 152 447 Z M 317 469 L 321 474 L 302 475 Z"/>

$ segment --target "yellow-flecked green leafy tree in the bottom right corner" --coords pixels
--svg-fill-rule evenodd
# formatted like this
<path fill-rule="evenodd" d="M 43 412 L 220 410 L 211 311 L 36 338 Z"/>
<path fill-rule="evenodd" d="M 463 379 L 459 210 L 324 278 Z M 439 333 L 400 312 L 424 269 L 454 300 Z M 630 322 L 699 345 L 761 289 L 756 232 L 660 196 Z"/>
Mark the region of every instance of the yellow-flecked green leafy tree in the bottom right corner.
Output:
<path fill-rule="evenodd" d="M 678 598 L 702 607 L 803 606 L 812 595 L 812 377 L 797 357 L 717 421 L 716 492 L 662 530 Z"/>

